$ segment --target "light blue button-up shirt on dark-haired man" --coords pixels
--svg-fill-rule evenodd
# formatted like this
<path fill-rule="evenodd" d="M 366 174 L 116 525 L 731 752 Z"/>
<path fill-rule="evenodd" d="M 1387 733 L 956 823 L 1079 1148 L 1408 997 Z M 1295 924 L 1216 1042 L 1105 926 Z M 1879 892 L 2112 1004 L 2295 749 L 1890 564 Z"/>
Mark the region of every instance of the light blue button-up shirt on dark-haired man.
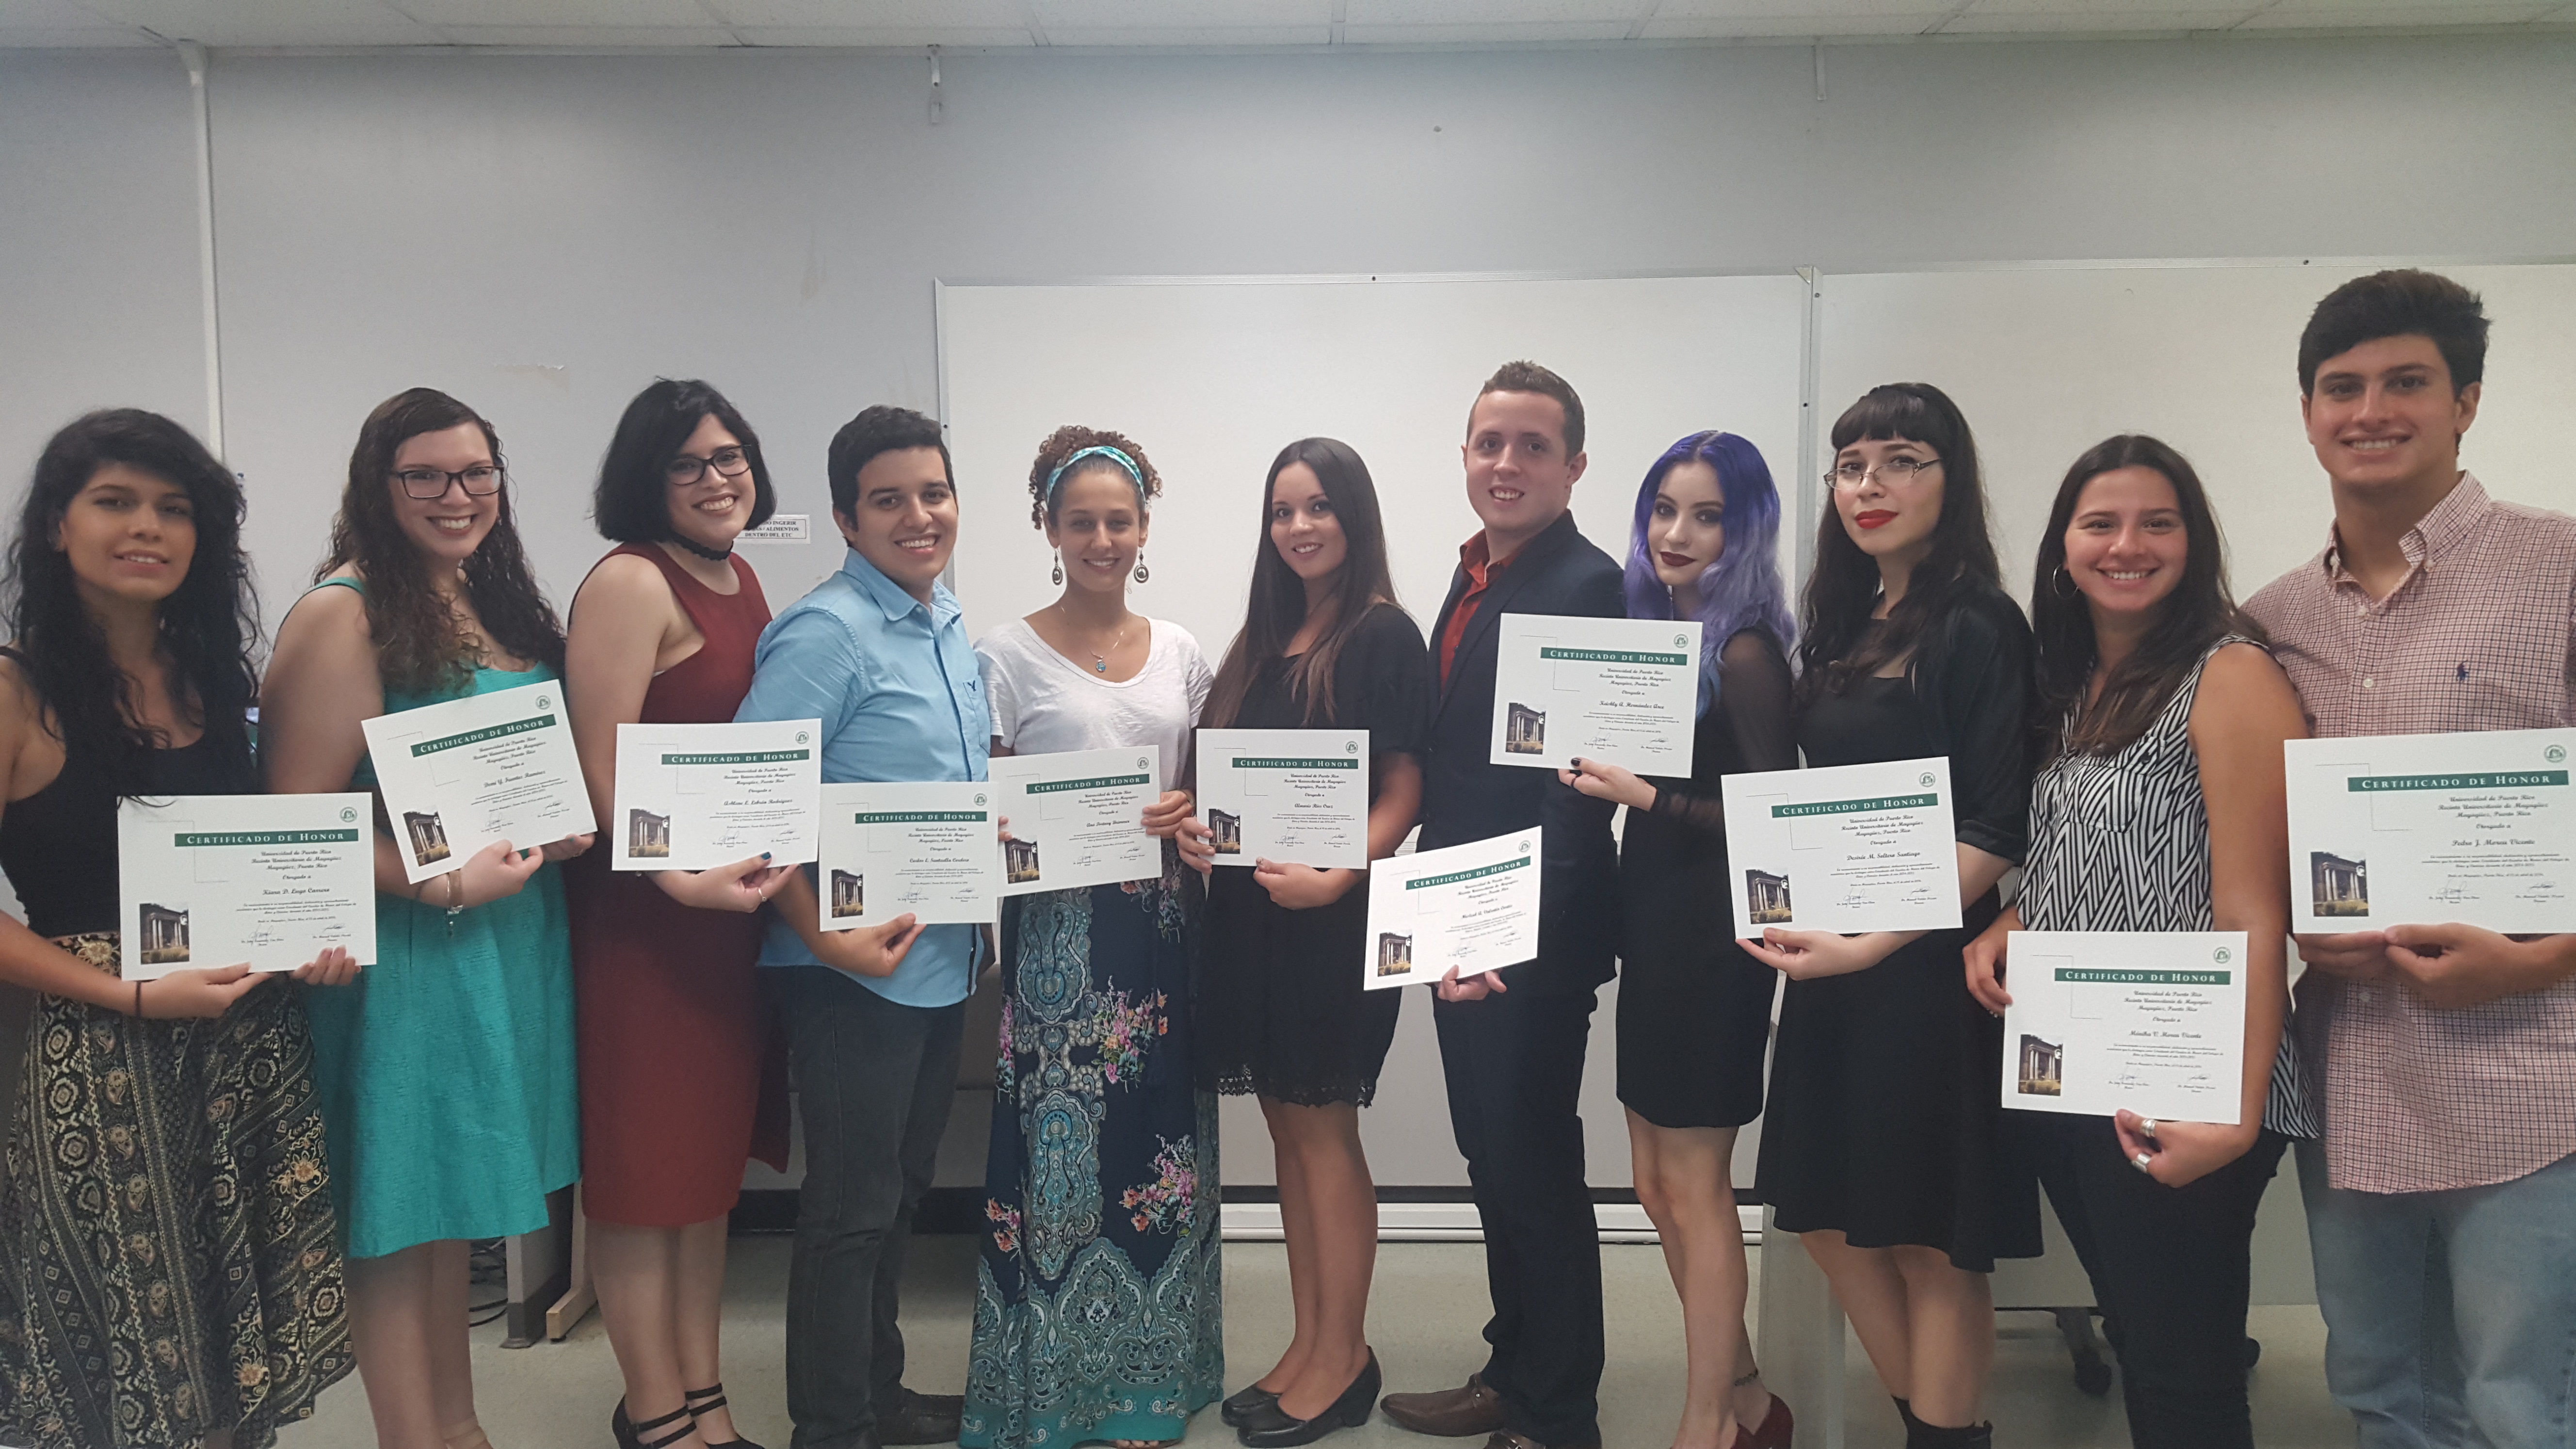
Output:
<path fill-rule="evenodd" d="M 840 572 L 770 619 L 755 665 L 734 719 L 822 719 L 824 781 L 984 779 L 992 709 L 945 585 L 922 603 L 853 549 Z M 902 1006 L 953 1006 L 974 990 L 974 926 L 930 926 L 891 977 L 850 980 Z M 773 913 L 760 964 L 819 962 Z"/>

